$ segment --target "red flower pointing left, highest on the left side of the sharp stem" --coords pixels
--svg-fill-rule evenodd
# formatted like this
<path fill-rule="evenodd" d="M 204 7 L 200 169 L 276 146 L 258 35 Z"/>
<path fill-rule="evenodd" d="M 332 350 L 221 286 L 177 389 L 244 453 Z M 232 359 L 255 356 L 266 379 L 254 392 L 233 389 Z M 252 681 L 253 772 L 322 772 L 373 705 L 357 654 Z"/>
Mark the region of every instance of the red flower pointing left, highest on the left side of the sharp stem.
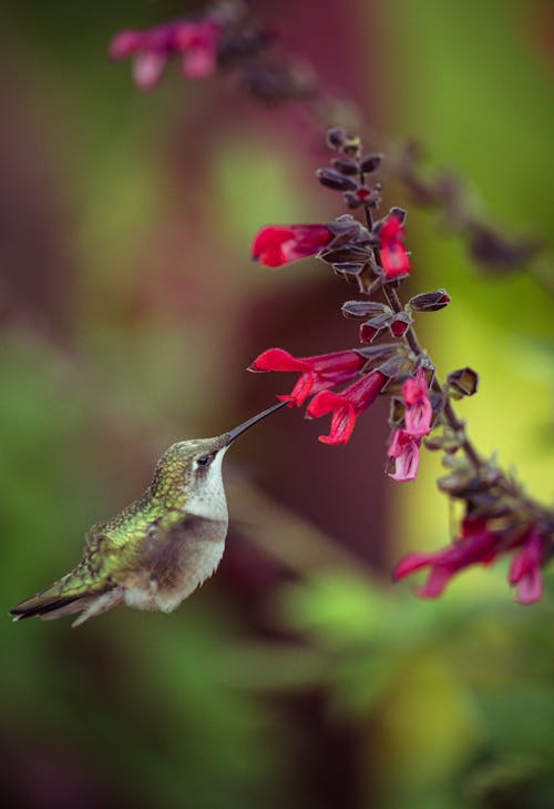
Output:
<path fill-rule="evenodd" d="M 327 225 L 269 225 L 263 227 L 252 245 L 253 259 L 266 266 L 280 266 L 315 255 L 335 234 Z"/>

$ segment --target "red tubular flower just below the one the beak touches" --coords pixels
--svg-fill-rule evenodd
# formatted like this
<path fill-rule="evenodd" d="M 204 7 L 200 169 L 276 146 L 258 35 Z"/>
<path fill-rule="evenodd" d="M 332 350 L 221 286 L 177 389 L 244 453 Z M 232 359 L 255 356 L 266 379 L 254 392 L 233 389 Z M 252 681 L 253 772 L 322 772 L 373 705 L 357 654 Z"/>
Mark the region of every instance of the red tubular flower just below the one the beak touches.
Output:
<path fill-rule="evenodd" d="M 380 371 L 371 371 L 341 393 L 324 391 L 314 396 L 308 405 L 306 415 L 319 418 L 332 413 L 329 435 L 320 435 L 324 444 L 346 444 L 360 416 L 381 392 L 387 377 Z"/>

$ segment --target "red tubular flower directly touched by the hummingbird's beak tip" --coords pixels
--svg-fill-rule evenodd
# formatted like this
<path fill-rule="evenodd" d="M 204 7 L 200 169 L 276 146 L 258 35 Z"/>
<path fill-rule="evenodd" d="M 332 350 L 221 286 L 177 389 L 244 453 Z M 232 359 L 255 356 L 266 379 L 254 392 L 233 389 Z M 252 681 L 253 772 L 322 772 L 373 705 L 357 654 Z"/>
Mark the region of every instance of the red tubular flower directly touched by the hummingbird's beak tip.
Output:
<path fill-rule="evenodd" d="M 366 360 L 356 351 L 296 357 L 283 348 L 268 348 L 256 357 L 248 371 L 299 371 L 291 393 L 279 398 L 300 407 L 308 396 L 349 382 L 365 364 Z"/>

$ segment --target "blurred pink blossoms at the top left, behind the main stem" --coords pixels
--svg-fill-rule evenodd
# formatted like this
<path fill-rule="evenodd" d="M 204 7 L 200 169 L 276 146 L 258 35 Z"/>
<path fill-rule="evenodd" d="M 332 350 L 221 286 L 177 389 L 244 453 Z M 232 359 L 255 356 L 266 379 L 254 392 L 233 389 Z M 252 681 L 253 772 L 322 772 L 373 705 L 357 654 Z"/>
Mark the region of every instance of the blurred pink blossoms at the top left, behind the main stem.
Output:
<path fill-rule="evenodd" d="M 133 57 L 133 75 L 141 90 L 152 90 L 161 82 L 165 65 L 182 58 L 183 74 L 188 79 L 211 75 L 217 65 L 219 24 L 209 18 L 176 20 L 146 31 L 122 31 L 110 44 L 112 59 Z"/>

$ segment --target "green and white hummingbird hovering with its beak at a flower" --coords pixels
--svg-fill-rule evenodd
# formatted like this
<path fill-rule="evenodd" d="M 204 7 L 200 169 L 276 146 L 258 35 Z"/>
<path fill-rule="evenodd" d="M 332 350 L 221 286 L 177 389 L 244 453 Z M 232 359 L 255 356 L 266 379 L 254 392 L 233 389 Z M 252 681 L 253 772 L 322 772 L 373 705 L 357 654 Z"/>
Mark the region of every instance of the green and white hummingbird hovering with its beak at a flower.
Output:
<path fill-rule="evenodd" d="M 228 528 L 222 462 L 235 438 L 279 402 L 215 438 L 173 444 L 137 500 L 86 535 L 76 567 L 18 604 L 13 620 L 80 613 L 72 626 L 119 605 L 171 613 L 215 573 Z"/>

